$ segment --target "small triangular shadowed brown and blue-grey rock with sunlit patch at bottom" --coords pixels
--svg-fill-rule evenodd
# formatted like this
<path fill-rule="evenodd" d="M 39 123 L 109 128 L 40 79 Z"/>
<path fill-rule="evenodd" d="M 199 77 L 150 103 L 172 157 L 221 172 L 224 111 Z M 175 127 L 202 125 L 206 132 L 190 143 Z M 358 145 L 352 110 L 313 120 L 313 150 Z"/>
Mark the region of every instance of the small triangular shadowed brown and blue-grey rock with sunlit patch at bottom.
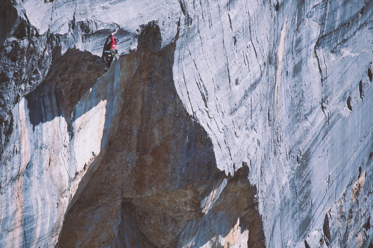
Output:
<path fill-rule="evenodd" d="M 172 247 L 264 248 L 263 224 L 258 210 L 257 188 L 247 178 L 248 167 L 228 178 L 219 198 L 201 219 L 188 223 Z M 246 244 L 244 244 L 246 243 Z"/>

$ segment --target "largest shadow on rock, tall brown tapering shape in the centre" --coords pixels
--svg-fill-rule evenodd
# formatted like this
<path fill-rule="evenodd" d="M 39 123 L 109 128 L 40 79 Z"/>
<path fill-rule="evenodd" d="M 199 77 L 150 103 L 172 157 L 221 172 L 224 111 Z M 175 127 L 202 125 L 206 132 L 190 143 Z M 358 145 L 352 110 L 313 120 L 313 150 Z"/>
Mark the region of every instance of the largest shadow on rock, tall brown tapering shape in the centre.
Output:
<path fill-rule="evenodd" d="M 232 223 L 242 219 L 242 230 L 258 235 L 257 247 L 264 247 L 248 171 L 232 178 L 217 169 L 211 139 L 176 92 L 175 42 L 160 49 L 159 26 L 150 22 L 138 44 L 123 60 L 138 67 L 125 86 L 118 130 L 66 214 L 59 247 L 176 247 L 182 233 L 204 218 L 217 224 L 216 233 L 223 226 L 220 235 L 228 235 L 234 226 L 228 216 Z M 226 188 L 205 215 L 201 201 L 223 180 L 229 180 Z"/>

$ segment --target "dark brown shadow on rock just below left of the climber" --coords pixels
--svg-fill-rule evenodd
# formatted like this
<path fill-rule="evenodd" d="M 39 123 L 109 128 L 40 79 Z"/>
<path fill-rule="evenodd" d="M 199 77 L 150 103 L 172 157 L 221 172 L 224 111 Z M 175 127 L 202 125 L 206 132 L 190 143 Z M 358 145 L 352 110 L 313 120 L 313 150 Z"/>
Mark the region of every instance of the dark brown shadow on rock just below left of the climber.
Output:
<path fill-rule="evenodd" d="M 71 119 L 73 109 L 104 73 L 105 66 L 98 56 L 77 49 L 68 49 L 63 56 L 53 61 L 43 83 L 26 96 L 29 117 L 35 130 L 35 126 L 40 123 L 63 116 L 71 134 L 71 124 L 79 117 L 73 116 Z"/>

